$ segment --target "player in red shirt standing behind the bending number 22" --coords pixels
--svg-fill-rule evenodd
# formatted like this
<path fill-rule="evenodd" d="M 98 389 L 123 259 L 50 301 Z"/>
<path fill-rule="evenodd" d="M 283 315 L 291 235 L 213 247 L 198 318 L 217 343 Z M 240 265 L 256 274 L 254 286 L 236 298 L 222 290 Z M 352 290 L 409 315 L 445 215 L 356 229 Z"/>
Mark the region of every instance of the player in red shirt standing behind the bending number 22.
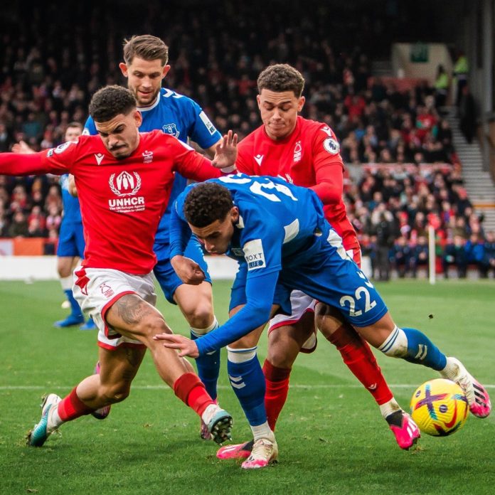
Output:
<path fill-rule="evenodd" d="M 344 164 L 339 142 L 327 124 L 299 116 L 304 106 L 304 78 L 290 65 L 277 64 L 262 71 L 257 85 L 257 104 L 263 124 L 240 142 L 238 171 L 280 176 L 297 186 L 312 188 L 324 203 L 326 218 L 343 239 L 348 255 L 359 265 L 361 250 L 342 200 Z M 336 346 L 344 363 L 373 395 L 398 445 L 403 449 L 411 447 L 419 437 L 419 430 L 393 398 L 366 341 L 338 312 L 316 303 L 306 294 L 292 292 L 291 302 L 292 314 L 275 316 L 268 330 L 269 345 L 263 372 L 265 408 L 271 430 L 275 429 L 287 399 L 289 375 L 297 354 L 299 351 L 311 352 L 316 347 L 316 306 L 316 326 Z M 238 309 L 234 308 L 232 313 Z M 261 331 L 258 329 L 230 344 L 229 360 L 239 363 L 245 355 L 252 363 L 252 349 L 257 345 Z M 234 391 L 237 390 L 234 388 Z M 272 433 L 269 430 L 265 433 L 272 440 Z M 244 458 L 250 455 L 251 449 L 252 441 L 222 447 L 217 455 L 220 459 Z"/>

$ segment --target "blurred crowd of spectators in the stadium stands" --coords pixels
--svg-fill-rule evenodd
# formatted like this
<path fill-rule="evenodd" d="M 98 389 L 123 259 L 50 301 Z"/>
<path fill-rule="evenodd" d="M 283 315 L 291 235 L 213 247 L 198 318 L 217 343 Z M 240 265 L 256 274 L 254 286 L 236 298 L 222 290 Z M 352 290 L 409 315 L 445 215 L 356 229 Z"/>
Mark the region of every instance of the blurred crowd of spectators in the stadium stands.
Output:
<path fill-rule="evenodd" d="M 388 280 L 392 267 L 400 276 L 415 276 L 427 265 L 428 225 L 437 235 L 438 271 L 448 275 L 454 266 L 463 277 L 477 265 L 485 277 L 495 270 L 494 233 L 484 232 L 467 198 L 438 90 L 421 82 L 400 91 L 371 75 L 366 47 L 380 50 L 376 40 L 384 47 L 404 26 L 385 30 L 365 9 L 357 18 L 344 13 L 330 39 L 325 6 L 297 19 L 277 2 L 261 12 L 257 7 L 234 9 L 225 1 L 213 14 L 197 5 L 187 18 L 183 10 L 167 17 L 151 1 L 139 14 L 139 30 L 136 18 L 114 18 L 109 6 L 35 7 L 28 26 L 15 6 L 6 9 L 0 151 L 21 140 L 36 150 L 54 147 L 69 122 L 84 123 L 95 90 L 123 82 L 117 68 L 122 40 L 137 31 L 169 43 L 166 87 L 193 97 L 220 132 L 233 129 L 240 139 L 261 124 L 257 74 L 270 63 L 288 62 L 307 80 L 303 117 L 328 123 L 344 162 L 362 169 L 361 179 L 348 180 L 346 206 L 376 276 Z M 88 18 L 86 31 L 67 21 L 81 15 Z M 55 177 L 0 176 L 0 237 L 44 237 L 53 252 L 62 215 Z"/>

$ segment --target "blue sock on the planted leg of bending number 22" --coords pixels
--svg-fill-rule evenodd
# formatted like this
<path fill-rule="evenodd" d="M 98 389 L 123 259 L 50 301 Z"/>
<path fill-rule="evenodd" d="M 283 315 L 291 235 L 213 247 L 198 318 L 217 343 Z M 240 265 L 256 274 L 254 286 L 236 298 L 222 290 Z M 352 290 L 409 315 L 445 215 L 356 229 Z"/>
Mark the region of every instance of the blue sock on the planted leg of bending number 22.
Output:
<path fill-rule="evenodd" d="M 251 426 L 262 425 L 267 421 L 265 410 L 265 376 L 256 356 L 256 348 L 236 352 L 228 349 L 227 371 L 230 385 L 244 410 Z M 252 357 L 254 354 L 254 357 Z M 244 356 L 243 356 L 244 355 Z M 242 361 L 249 358 L 248 361 Z M 241 362 L 233 362 L 235 361 Z"/>

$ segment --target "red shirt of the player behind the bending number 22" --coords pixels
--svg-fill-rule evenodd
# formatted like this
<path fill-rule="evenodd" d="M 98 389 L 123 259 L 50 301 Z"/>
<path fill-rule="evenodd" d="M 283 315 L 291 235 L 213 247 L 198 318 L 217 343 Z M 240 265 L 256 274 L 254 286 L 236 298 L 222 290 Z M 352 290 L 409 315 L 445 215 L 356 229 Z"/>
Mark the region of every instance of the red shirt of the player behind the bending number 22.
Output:
<path fill-rule="evenodd" d="M 344 163 L 339 151 L 328 125 L 297 117 L 294 131 L 284 139 L 268 137 L 264 125 L 251 132 L 238 144 L 236 165 L 244 174 L 280 176 L 296 186 L 313 189 L 346 250 L 358 250 L 356 231 L 342 200 Z"/>

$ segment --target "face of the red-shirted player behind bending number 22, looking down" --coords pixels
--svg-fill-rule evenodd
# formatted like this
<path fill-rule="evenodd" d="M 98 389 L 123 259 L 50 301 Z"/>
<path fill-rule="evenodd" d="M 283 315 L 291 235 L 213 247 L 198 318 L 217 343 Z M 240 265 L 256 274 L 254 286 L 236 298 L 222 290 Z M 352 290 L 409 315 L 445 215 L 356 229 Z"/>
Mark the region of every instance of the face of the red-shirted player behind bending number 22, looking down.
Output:
<path fill-rule="evenodd" d="M 271 139 L 284 139 L 296 127 L 297 114 L 304 106 L 304 96 L 293 91 L 275 92 L 262 89 L 257 104 L 265 130 Z"/>

